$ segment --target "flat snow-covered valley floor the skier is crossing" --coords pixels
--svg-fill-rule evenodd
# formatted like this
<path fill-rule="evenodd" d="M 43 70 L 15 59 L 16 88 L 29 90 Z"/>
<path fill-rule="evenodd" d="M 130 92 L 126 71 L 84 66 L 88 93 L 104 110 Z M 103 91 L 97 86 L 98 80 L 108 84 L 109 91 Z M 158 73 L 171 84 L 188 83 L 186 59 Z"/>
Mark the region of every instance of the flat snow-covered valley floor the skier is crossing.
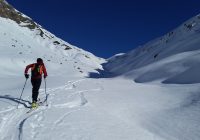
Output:
<path fill-rule="evenodd" d="M 123 78 L 47 79 L 48 106 L 26 113 L 31 84 L 0 89 L 1 140 L 199 140 L 200 85 L 138 84 Z M 40 100 L 45 100 L 44 83 Z M 17 104 L 19 109 L 16 108 Z"/>

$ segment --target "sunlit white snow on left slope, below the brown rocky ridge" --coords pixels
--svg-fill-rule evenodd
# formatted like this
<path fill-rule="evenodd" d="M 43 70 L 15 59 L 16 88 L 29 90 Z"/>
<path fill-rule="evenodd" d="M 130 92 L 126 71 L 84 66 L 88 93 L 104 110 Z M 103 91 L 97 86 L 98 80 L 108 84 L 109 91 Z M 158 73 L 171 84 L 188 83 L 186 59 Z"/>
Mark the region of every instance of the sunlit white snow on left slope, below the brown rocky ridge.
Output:
<path fill-rule="evenodd" d="M 88 70 L 101 68 L 100 63 L 103 62 L 103 59 L 64 42 L 44 29 L 42 29 L 43 32 L 48 36 L 42 38 L 38 35 L 38 30 L 31 31 L 28 28 L 20 27 L 10 19 L 0 18 L 0 21 L 0 57 L 3 60 L 0 65 L 3 75 L 12 75 L 13 73 L 20 75 L 19 70 L 27 64 L 35 62 L 38 57 L 44 59 L 54 71 L 61 70 L 61 67 L 65 69 L 68 65 L 76 69 L 78 73 L 82 71 L 83 75 L 87 75 Z M 66 49 L 66 47 L 70 49 Z M 12 65 L 15 65 L 15 69 L 12 69 Z M 80 69 L 77 69 L 78 67 Z M 73 69 L 71 71 L 74 71 Z"/>

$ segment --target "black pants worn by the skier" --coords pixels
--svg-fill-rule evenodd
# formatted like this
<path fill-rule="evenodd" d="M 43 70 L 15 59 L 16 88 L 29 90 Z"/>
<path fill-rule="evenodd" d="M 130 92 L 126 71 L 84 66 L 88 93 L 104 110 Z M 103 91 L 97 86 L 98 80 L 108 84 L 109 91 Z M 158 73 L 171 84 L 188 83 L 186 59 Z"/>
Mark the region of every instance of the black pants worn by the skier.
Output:
<path fill-rule="evenodd" d="M 39 94 L 39 89 L 40 89 L 41 82 L 42 82 L 42 78 L 31 79 L 31 83 L 32 83 L 32 86 L 33 86 L 33 89 L 32 89 L 32 99 L 33 99 L 33 102 L 34 101 L 37 102 L 37 98 L 38 98 L 38 94 Z"/>

